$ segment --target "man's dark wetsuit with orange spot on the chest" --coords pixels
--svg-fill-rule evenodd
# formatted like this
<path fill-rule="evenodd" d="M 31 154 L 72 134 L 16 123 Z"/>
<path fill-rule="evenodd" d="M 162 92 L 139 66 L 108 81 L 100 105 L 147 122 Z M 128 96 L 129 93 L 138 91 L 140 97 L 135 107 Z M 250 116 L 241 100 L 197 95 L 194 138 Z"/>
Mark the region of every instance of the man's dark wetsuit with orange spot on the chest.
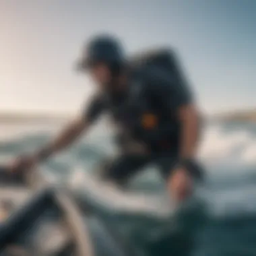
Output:
<path fill-rule="evenodd" d="M 131 72 L 128 81 L 123 92 L 98 94 L 84 116 L 93 122 L 107 112 L 122 127 L 123 139 L 128 135 L 144 143 L 150 154 L 121 154 L 104 174 L 117 183 L 125 183 L 137 170 L 154 163 L 166 178 L 179 158 L 178 109 L 193 104 L 193 96 L 181 79 L 156 66 Z M 192 172 L 199 176 L 197 170 Z"/>

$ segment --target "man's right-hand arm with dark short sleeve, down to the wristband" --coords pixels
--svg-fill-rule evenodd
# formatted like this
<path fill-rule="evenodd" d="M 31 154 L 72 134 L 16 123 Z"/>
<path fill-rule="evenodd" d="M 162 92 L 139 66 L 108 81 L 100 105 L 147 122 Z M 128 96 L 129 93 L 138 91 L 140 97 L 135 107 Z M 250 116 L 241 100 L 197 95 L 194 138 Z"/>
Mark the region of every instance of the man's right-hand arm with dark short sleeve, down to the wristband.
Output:
<path fill-rule="evenodd" d="M 199 139 L 200 117 L 191 88 L 180 79 L 168 75 L 154 76 L 154 95 L 162 108 L 170 110 L 180 125 L 179 157 L 187 160 L 195 157 Z M 170 117 L 171 118 L 171 117 Z"/>

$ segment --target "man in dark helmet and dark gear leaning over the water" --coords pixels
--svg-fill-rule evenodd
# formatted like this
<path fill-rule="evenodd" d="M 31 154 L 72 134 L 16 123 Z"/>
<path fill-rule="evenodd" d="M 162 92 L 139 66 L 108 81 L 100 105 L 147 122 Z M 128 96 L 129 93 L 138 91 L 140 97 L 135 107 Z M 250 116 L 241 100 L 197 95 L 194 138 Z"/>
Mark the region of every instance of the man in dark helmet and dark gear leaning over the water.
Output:
<path fill-rule="evenodd" d="M 187 199 L 194 179 L 200 176 L 195 161 L 199 114 L 182 79 L 156 65 L 133 69 L 121 44 L 111 36 L 93 38 L 79 68 L 89 71 L 98 86 L 88 109 L 52 143 L 33 156 L 18 159 L 11 169 L 32 168 L 53 156 L 108 112 L 120 128 L 123 147 L 121 156 L 104 170 L 104 178 L 123 185 L 137 170 L 156 163 L 170 197 Z M 131 141 L 135 142 L 132 148 Z"/>

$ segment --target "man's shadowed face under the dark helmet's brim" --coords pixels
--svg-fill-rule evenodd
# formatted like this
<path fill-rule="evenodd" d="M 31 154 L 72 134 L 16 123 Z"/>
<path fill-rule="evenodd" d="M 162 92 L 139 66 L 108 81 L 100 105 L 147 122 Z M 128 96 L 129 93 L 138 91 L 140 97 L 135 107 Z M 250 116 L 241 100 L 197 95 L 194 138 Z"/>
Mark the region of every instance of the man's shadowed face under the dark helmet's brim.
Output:
<path fill-rule="evenodd" d="M 92 79 L 100 88 L 106 88 L 111 81 L 111 73 L 108 66 L 104 63 L 97 63 L 90 68 Z"/>

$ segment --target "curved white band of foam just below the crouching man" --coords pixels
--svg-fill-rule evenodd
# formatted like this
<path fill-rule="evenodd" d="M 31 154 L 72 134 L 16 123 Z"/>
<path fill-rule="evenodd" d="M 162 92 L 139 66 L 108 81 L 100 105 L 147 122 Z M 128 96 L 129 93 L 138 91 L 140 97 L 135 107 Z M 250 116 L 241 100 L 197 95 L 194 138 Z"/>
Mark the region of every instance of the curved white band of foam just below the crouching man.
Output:
<path fill-rule="evenodd" d="M 167 217 L 170 214 L 168 203 L 165 204 L 166 207 L 163 207 L 159 197 L 143 193 L 123 192 L 113 183 L 102 183 L 84 170 L 77 169 L 73 172 L 69 185 L 75 191 L 89 195 L 92 200 L 98 201 L 105 207 L 110 207 L 111 210 L 146 213 L 161 217 Z"/>

